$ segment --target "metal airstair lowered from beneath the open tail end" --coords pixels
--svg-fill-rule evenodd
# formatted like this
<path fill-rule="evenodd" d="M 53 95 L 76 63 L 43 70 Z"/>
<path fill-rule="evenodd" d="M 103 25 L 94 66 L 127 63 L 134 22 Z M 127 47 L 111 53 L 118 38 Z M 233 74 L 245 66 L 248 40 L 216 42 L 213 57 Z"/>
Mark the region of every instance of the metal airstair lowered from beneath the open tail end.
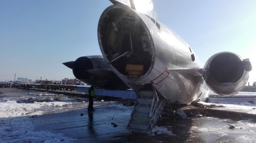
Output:
<path fill-rule="evenodd" d="M 163 108 L 165 99 L 153 87 L 153 91 L 135 91 L 137 99 L 127 126 L 135 133 L 151 131 L 155 126 Z"/>

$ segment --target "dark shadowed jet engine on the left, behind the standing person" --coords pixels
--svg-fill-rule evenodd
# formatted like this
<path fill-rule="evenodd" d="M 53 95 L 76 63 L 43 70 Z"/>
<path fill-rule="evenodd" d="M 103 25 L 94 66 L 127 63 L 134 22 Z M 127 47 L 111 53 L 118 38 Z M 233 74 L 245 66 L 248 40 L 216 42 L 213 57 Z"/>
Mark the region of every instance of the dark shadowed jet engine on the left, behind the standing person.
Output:
<path fill-rule="evenodd" d="M 64 62 L 63 64 L 73 69 L 73 74 L 77 79 L 95 87 L 109 90 L 129 89 L 111 71 L 109 64 L 100 55 L 79 57 L 76 61 Z"/>

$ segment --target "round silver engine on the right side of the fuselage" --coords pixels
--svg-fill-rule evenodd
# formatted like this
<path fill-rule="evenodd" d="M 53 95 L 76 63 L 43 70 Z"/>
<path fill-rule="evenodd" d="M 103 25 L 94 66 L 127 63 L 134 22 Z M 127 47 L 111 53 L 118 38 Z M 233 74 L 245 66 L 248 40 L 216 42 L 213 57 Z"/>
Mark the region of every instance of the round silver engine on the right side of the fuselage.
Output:
<path fill-rule="evenodd" d="M 252 70 L 249 59 L 232 52 L 219 52 L 204 65 L 204 80 L 215 93 L 233 95 L 246 85 Z"/>

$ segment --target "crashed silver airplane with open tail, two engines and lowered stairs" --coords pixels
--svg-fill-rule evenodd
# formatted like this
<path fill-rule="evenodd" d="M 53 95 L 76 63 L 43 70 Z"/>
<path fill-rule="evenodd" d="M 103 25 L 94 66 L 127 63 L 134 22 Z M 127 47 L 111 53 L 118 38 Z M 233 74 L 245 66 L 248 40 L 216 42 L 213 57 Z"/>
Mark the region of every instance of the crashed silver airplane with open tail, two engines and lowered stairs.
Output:
<path fill-rule="evenodd" d="M 110 0 L 98 22 L 97 56 L 63 63 L 98 88 L 133 89 L 137 95 L 128 129 L 151 131 L 167 103 L 204 101 L 212 90 L 234 95 L 249 79 L 249 59 L 220 52 L 199 66 L 190 45 L 158 21 L 152 0 Z"/>

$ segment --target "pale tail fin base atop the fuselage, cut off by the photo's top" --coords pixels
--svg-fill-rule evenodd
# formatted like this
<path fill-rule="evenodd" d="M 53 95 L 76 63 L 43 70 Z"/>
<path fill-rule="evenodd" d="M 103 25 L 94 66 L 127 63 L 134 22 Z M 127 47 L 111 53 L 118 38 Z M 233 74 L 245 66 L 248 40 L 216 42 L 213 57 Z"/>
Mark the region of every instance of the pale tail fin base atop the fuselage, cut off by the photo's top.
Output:
<path fill-rule="evenodd" d="M 138 12 L 147 14 L 153 19 L 158 20 L 158 14 L 154 10 L 154 5 L 152 0 L 109 0 L 113 4 L 123 4 L 131 7 Z"/>

